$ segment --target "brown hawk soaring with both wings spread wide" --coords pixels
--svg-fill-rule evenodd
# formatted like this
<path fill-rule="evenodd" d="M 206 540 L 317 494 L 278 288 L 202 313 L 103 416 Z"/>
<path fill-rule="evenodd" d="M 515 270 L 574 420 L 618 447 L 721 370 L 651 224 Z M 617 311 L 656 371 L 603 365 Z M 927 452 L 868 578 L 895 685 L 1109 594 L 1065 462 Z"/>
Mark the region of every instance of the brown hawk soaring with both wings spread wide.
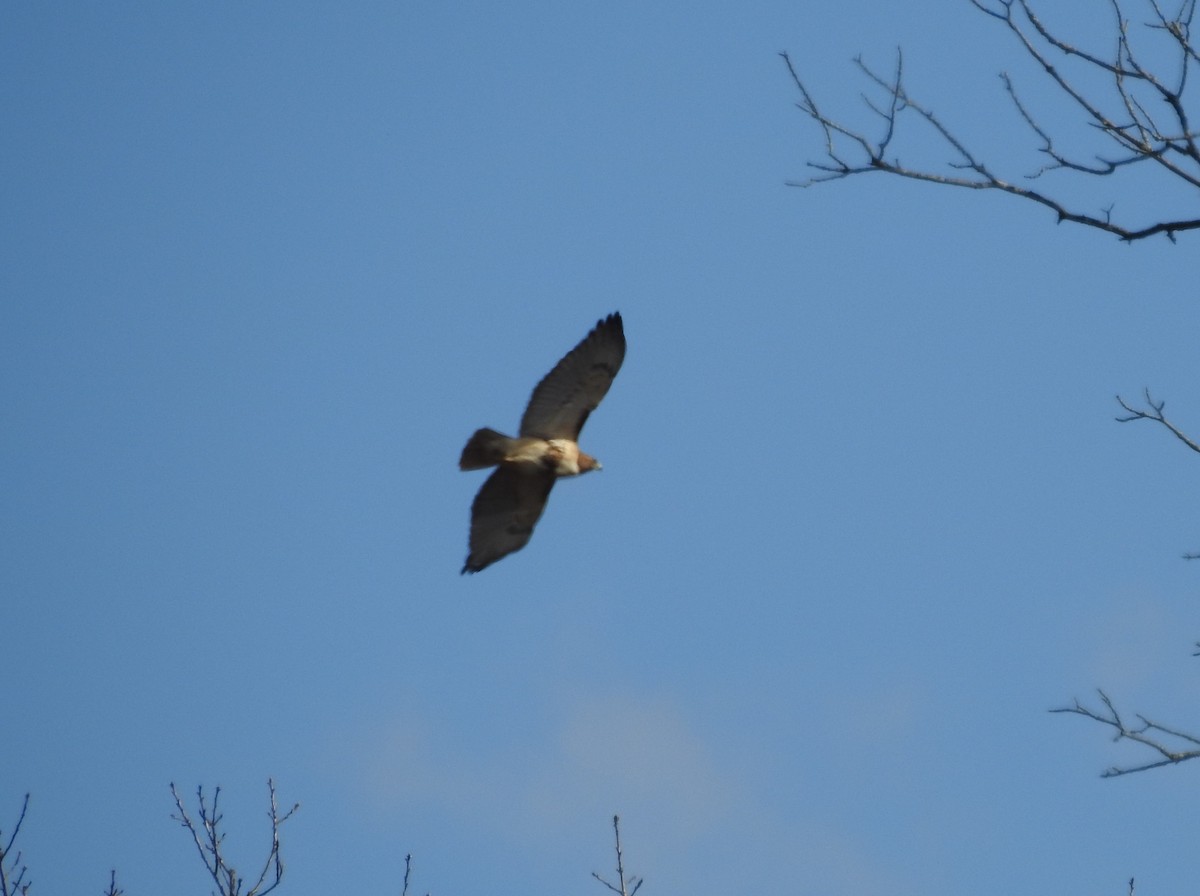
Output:
<path fill-rule="evenodd" d="M 470 505 L 470 552 L 462 572 L 479 572 L 523 548 L 559 476 L 600 469 L 599 461 L 580 451 L 580 431 L 624 360 L 620 314 L 610 314 L 533 390 L 517 438 L 494 429 L 470 437 L 458 469 L 496 470 Z"/>

